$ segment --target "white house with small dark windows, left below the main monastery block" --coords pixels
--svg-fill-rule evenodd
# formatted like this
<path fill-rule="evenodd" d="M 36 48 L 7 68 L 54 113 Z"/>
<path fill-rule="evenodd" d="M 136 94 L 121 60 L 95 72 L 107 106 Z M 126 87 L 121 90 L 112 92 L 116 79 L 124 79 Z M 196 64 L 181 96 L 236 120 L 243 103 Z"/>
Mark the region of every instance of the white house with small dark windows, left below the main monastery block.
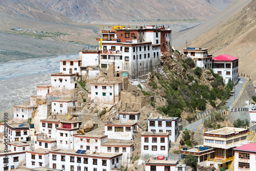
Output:
<path fill-rule="evenodd" d="M 51 75 L 51 84 L 53 89 L 75 89 L 76 74 L 56 73 Z"/>

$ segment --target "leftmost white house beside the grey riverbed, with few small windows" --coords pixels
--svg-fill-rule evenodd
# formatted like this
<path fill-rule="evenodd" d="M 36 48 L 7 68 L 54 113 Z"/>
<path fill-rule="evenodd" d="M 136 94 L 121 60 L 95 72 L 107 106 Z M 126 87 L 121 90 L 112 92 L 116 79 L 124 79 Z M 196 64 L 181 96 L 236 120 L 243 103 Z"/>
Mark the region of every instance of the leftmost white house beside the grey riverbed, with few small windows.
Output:
<path fill-rule="evenodd" d="M 13 120 L 17 122 L 24 122 L 31 118 L 32 112 L 35 110 L 33 105 L 14 105 L 13 106 Z"/>

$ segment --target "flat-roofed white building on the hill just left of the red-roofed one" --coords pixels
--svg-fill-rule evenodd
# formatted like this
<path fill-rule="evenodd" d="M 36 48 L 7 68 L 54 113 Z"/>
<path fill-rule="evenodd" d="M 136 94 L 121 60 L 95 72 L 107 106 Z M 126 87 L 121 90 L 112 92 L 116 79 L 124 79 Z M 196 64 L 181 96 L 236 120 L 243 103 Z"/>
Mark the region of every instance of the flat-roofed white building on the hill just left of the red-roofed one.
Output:
<path fill-rule="evenodd" d="M 212 68 L 212 55 L 208 54 L 208 49 L 186 48 L 183 53 L 194 60 L 196 67 Z"/>

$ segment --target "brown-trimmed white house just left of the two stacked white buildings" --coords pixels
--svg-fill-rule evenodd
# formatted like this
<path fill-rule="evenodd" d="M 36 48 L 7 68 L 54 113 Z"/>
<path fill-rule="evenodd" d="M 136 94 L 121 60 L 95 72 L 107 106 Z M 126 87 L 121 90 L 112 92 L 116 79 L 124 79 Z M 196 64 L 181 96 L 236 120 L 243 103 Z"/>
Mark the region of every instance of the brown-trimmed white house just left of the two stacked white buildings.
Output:
<path fill-rule="evenodd" d="M 133 141 L 133 133 L 136 130 L 137 123 L 133 122 L 105 124 L 105 135 L 109 139 Z"/>

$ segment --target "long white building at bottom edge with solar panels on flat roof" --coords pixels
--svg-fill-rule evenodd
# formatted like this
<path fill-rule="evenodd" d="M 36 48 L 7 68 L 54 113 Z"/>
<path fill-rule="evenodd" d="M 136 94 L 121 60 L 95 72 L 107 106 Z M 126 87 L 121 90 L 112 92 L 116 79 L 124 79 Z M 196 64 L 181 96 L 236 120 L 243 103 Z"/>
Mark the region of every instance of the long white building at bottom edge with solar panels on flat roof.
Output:
<path fill-rule="evenodd" d="M 49 152 L 49 167 L 62 170 L 120 171 L 122 154 L 90 154 L 86 151 L 58 149 Z"/>

